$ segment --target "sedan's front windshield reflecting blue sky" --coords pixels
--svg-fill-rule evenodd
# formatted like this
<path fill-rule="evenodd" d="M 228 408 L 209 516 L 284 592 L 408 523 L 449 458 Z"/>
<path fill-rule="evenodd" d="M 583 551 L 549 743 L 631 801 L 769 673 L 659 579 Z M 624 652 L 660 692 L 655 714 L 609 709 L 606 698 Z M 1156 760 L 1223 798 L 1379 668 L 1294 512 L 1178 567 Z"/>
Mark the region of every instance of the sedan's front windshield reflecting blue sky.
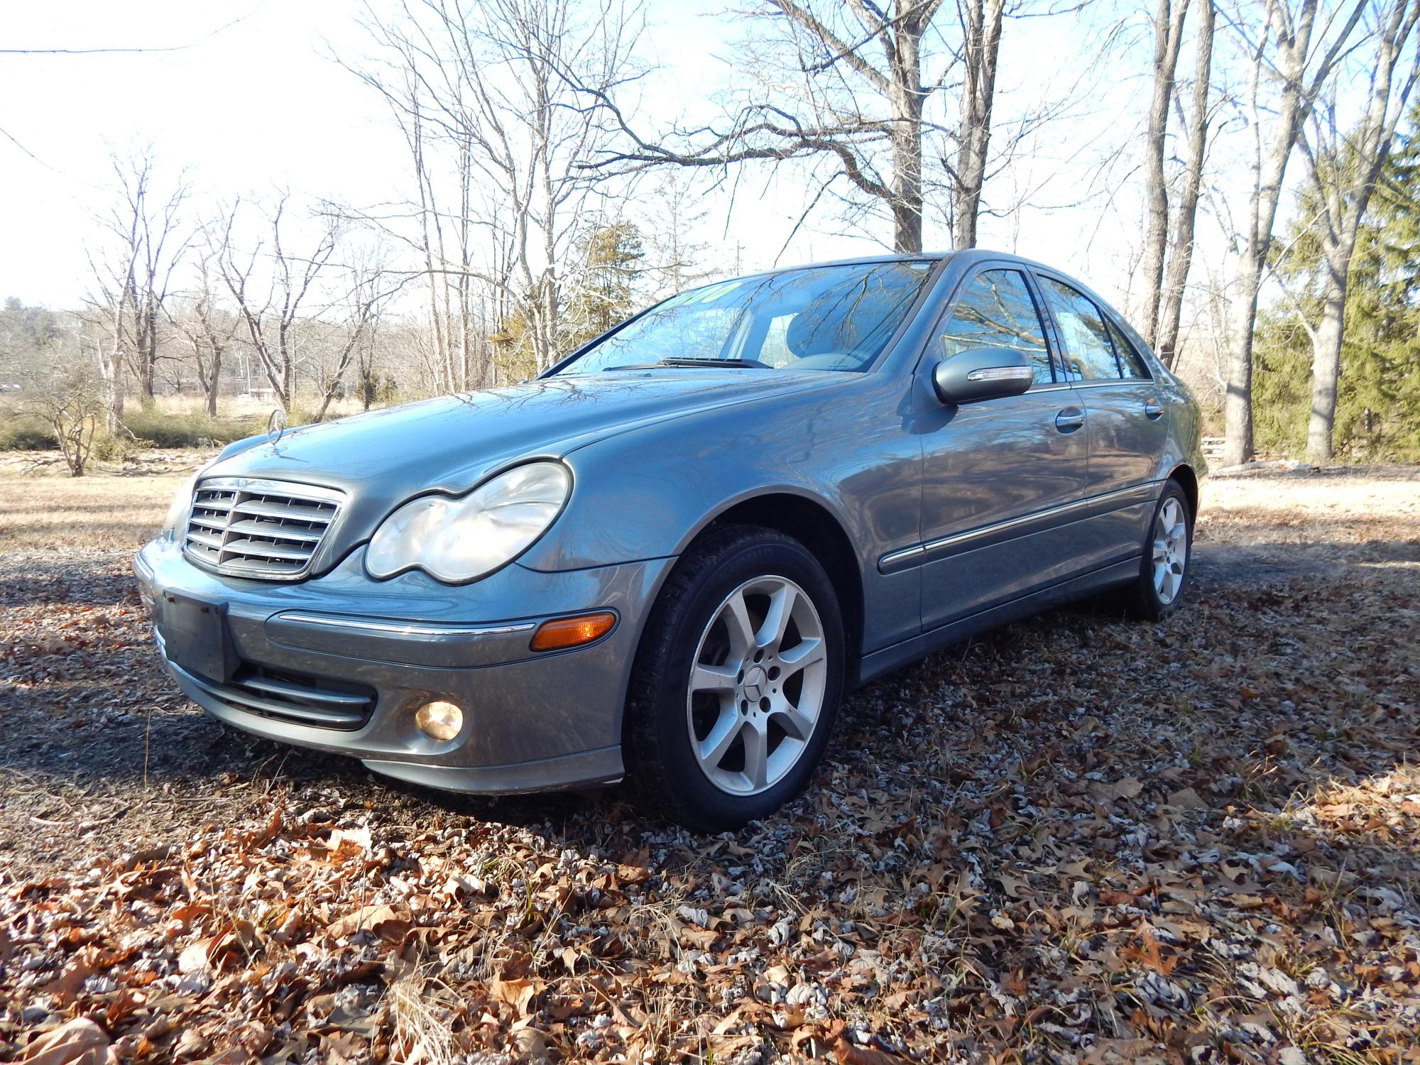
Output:
<path fill-rule="evenodd" d="M 866 369 L 902 324 L 932 266 L 808 267 L 692 288 L 588 348 L 558 373 L 704 362 Z"/>

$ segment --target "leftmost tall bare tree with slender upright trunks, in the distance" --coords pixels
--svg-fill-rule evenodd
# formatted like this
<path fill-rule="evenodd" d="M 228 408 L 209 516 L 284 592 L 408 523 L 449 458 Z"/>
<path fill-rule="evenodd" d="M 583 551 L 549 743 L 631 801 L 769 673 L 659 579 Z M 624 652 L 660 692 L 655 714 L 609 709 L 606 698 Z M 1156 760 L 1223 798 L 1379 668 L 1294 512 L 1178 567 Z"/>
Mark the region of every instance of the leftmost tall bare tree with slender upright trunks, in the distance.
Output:
<path fill-rule="evenodd" d="M 189 195 L 179 176 L 163 196 L 155 190 L 156 159 L 152 149 L 131 158 L 112 156 L 118 196 L 99 222 L 105 246 L 89 256 L 97 295 L 89 305 L 111 332 L 112 344 L 101 354 L 108 422 L 119 432 L 124 420 L 124 369 L 138 378 L 145 402 L 152 402 L 158 381 L 159 324 L 173 273 L 187 248 L 182 207 Z"/>

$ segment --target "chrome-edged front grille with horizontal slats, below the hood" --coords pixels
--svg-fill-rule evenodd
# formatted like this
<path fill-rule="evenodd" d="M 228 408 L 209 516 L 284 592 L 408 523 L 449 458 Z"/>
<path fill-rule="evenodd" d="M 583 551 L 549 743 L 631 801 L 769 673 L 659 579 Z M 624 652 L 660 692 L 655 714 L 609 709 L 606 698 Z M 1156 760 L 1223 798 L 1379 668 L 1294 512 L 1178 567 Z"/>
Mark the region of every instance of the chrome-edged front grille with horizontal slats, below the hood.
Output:
<path fill-rule="evenodd" d="M 231 577 L 304 577 L 344 496 L 334 488 L 250 477 L 209 477 L 193 490 L 183 550 Z"/>

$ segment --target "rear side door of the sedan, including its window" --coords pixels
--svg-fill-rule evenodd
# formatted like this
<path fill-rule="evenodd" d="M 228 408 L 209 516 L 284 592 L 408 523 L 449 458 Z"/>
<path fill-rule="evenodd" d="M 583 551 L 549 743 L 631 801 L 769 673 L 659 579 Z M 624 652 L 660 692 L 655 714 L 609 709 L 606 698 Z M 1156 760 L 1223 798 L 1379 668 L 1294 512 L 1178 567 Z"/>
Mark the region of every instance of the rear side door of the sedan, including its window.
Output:
<path fill-rule="evenodd" d="M 1110 311 L 1064 277 L 1038 270 L 1037 278 L 1065 379 L 1085 406 L 1089 494 L 1113 514 L 1105 524 L 1120 550 L 1137 551 L 1167 440 L 1160 395 Z"/>

